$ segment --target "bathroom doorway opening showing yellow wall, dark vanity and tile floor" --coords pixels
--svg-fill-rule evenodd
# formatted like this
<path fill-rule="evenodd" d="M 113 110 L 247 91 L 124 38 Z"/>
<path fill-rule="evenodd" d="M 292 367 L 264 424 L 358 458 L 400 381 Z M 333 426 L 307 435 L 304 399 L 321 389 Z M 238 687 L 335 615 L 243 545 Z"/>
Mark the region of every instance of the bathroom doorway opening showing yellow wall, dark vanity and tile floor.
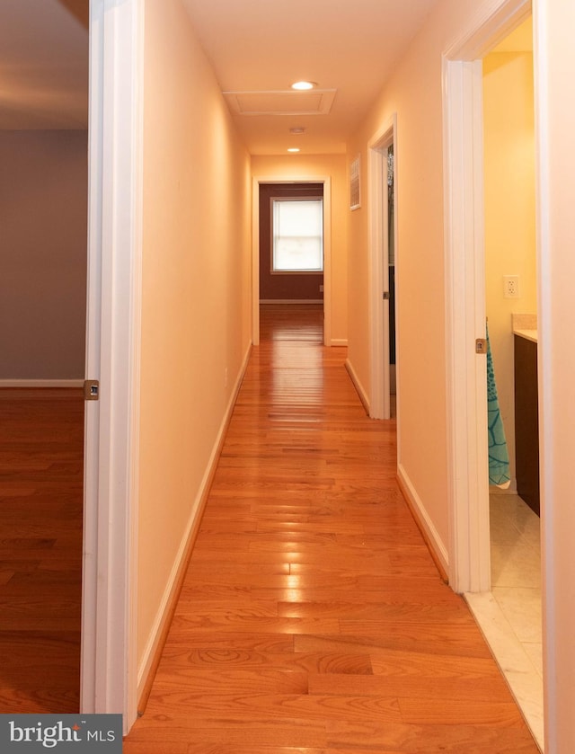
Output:
<path fill-rule="evenodd" d="M 509 482 L 490 480 L 492 602 L 489 617 L 481 607 L 474 612 L 482 624 L 497 614 L 509 640 L 509 648 L 497 650 L 500 664 L 509 667 L 512 652 L 514 667 L 521 667 L 516 696 L 543 745 L 531 16 L 483 58 L 482 67 L 486 314 Z"/>

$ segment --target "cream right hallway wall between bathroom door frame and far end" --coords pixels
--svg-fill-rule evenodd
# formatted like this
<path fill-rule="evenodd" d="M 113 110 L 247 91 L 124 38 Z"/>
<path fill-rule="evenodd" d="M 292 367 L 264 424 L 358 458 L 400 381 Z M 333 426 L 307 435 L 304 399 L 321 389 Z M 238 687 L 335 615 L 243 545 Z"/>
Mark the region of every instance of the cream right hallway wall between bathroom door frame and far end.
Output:
<path fill-rule="evenodd" d="M 473 17 L 473 0 L 441 0 L 348 145 L 361 155 L 397 113 L 398 464 L 434 537 L 448 550 L 442 53 Z M 367 201 L 349 218 L 349 362 L 371 393 Z"/>

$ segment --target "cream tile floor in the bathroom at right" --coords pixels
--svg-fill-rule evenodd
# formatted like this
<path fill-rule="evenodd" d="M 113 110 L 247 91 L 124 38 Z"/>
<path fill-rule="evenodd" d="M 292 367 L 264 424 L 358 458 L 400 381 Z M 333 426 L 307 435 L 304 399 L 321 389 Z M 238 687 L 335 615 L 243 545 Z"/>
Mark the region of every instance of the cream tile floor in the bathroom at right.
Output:
<path fill-rule="evenodd" d="M 512 494 L 491 494 L 490 515 L 491 592 L 465 599 L 543 751 L 539 517 Z"/>

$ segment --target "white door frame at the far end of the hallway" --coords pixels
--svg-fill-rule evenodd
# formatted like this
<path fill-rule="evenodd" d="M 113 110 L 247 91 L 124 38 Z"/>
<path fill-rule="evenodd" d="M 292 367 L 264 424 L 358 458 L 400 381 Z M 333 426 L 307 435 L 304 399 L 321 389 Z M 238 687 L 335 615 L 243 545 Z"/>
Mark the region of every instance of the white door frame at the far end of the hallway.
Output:
<path fill-rule="evenodd" d="M 332 345 L 332 179 L 274 174 L 252 178 L 252 343 L 260 343 L 260 184 L 323 183 L 323 345 Z"/>

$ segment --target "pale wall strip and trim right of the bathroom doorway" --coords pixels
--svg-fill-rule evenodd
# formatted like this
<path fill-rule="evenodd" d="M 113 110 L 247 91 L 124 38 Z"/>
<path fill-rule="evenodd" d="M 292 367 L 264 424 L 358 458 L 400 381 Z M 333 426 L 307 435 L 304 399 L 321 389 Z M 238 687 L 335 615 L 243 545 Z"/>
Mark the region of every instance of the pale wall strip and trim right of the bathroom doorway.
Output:
<path fill-rule="evenodd" d="M 538 0 L 535 132 L 547 754 L 575 751 L 575 4 Z"/>

